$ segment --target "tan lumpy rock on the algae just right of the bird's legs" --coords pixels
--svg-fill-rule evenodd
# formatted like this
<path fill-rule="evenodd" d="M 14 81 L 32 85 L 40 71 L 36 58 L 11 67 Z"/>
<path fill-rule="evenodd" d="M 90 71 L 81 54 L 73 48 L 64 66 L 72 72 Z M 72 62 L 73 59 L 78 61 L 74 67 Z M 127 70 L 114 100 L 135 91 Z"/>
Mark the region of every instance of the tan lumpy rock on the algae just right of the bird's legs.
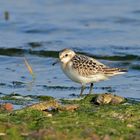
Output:
<path fill-rule="evenodd" d="M 101 104 L 120 104 L 125 102 L 126 99 L 121 96 L 113 95 L 110 93 L 99 94 L 95 99 L 95 103 Z"/>

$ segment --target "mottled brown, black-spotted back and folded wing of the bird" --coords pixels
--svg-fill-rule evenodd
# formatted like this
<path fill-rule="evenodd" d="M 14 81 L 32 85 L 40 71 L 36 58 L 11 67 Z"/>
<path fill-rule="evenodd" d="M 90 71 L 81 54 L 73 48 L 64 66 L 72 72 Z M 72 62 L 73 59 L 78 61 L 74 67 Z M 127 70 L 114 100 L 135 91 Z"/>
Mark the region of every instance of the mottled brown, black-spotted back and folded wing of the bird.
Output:
<path fill-rule="evenodd" d="M 101 62 L 90 58 L 85 55 L 76 54 L 71 59 L 72 67 L 81 75 L 81 76 L 90 76 L 95 74 L 107 74 L 108 76 L 117 74 L 117 72 L 124 71 L 120 68 L 109 68 L 108 66 L 102 64 Z"/>

